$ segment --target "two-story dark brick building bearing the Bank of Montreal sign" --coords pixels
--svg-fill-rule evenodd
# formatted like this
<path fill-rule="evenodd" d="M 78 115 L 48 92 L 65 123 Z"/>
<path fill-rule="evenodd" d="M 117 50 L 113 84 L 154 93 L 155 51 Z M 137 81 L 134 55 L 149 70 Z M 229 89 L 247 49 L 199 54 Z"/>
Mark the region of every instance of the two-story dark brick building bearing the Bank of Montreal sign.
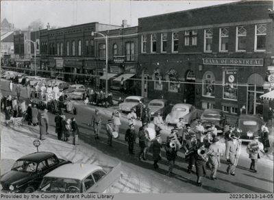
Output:
<path fill-rule="evenodd" d="M 273 1 L 244 1 L 139 18 L 142 95 L 262 114 L 259 97 L 274 59 L 269 8 Z"/>

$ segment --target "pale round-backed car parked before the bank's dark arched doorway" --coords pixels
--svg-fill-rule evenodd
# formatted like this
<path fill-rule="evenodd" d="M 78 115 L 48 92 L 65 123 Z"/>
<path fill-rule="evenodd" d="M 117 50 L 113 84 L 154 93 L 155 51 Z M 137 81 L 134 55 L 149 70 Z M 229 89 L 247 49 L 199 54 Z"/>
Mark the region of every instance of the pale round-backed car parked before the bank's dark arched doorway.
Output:
<path fill-rule="evenodd" d="M 182 117 L 186 123 L 190 124 L 197 116 L 197 109 L 193 105 L 188 103 L 177 103 L 166 116 L 166 123 L 168 125 L 176 125 L 179 122 L 179 118 Z"/>

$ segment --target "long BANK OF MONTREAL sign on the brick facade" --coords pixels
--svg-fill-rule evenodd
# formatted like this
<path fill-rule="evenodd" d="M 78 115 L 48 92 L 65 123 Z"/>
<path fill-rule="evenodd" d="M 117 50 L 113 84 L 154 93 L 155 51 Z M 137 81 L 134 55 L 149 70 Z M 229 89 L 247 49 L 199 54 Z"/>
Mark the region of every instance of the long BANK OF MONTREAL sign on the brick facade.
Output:
<path fill-rule="evenodd" d="M 264 66 L 263 58 L 203 58 L 203 64 L 229 66 Z"/>

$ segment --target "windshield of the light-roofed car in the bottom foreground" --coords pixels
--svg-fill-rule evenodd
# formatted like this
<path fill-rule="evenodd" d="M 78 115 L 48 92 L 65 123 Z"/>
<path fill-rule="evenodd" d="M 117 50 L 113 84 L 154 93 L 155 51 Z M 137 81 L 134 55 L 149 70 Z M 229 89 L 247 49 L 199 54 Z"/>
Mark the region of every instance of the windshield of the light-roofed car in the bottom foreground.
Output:
<path fill-rule="evenodd" d="M 44 177 L 38 191 L 50 193 L 79 193 L 81 182 L 77 179 Z"/>

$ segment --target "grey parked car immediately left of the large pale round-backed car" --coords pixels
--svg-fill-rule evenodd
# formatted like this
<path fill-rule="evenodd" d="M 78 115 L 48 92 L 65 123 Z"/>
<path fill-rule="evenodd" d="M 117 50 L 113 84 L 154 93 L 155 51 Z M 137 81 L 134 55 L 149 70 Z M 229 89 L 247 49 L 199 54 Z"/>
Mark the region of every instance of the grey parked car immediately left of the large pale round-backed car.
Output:
<path fill-rule="evenodd" d="M 148 108 L 151 118 L 157 116 L 158 112 L 160 112 L 163 118 L 166 118 L 166 115 L 169 114 L 169 112 L 171 112 L 171 105 L 169 101 L 164 99 L 153 99 L 149 101 Z"/>

